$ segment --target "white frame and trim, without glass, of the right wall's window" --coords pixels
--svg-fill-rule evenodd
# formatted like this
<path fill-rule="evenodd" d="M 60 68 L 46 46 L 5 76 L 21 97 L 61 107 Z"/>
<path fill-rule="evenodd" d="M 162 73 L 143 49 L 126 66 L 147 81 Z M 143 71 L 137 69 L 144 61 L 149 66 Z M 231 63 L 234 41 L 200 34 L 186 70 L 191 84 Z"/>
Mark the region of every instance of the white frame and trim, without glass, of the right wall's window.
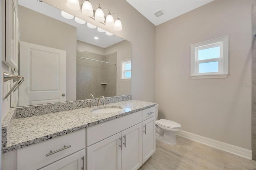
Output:
<path fill-rule="evenodd" d="M 198 60 L 198 51 L 212 47 L 220 47 L 220 57 Z M 191 45 L 191 70 L 192 79 L 226 78 L 228 77 L 228 36 L 216 38 Z M 218 61 L 218 72 L 199 73 L 200 63 Z"/>

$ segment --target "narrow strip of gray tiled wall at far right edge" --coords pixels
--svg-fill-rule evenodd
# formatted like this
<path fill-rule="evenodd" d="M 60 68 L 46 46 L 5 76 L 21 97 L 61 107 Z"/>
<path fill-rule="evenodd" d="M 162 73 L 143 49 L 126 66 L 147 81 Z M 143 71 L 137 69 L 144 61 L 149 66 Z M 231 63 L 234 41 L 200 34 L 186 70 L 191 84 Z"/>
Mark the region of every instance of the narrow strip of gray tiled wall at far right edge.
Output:
<path fill-rule="evenodd" d="M 252 34 L 256 34 L 256 4 L 252 5 Z M 256 160 L 256 36 L 252 38 L 252 159 Z"/>

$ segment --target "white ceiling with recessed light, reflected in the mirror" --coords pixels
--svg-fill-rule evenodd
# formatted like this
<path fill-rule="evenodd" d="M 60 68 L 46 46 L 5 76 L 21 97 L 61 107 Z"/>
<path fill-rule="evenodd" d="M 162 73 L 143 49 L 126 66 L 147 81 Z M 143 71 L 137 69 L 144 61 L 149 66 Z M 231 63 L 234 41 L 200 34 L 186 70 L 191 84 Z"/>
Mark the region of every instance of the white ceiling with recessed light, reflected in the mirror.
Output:
<path fill-rule="evenodd" d="M 50 6 L 44 2 L 40 2 L 39 0 L 18 0 L 18 4 L 46 16 L 50 16 L 51 18 L 54 18 L 56 20 L 60 20 L 62 22 L 75 26 L 77 40 L 79 41 L 106 48 L 124 40 L 116 35 L 107 36 L 104 32 L 98 32 L 97 28 L 88 28 L 87 23 L 78 24 L 74 20 L 74 18 L 71 20 L 66 19 L 61 16 L 61 10 Z M 95 40 L 94 37 L 98 37 L 99 39 Z"/>

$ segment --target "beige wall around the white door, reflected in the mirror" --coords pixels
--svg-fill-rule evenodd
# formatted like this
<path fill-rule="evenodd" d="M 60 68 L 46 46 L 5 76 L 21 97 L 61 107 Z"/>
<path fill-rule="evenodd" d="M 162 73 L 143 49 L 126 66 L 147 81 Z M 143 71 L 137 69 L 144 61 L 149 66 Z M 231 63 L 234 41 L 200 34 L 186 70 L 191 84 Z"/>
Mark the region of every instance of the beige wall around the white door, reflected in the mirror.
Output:
<path fill-rule="evenodd" d="M 20 41 L 66 51 L 66 100 L 76 100 L 76 27 L 23 6 L 19 26 Z"/>

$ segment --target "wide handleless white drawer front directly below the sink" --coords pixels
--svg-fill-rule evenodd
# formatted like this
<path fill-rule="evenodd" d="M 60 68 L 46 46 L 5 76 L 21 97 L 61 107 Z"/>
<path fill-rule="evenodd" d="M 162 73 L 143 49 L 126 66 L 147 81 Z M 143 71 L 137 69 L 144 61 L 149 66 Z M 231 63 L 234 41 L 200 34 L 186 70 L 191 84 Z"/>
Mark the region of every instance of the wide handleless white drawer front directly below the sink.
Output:
<path fill-rule="evenodd" d="M 90 146 L 141 122 L 141 111 L 86 128 L 86 146 Z"/>

